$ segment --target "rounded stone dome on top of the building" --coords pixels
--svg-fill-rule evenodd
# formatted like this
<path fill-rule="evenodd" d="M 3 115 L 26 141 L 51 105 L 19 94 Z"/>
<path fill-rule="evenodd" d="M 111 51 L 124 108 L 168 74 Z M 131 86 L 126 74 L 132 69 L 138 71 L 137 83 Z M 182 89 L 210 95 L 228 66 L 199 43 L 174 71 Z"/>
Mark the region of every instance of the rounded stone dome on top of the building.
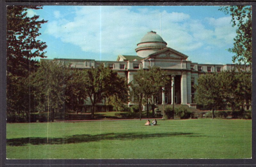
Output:
<path fill-rule="evenodd" d="M 147 57 L 149 54 L 166 48 L 167 43 L 155 31 L 149 31 L 137 44 L 135 51 L 140 57 Z"/>

